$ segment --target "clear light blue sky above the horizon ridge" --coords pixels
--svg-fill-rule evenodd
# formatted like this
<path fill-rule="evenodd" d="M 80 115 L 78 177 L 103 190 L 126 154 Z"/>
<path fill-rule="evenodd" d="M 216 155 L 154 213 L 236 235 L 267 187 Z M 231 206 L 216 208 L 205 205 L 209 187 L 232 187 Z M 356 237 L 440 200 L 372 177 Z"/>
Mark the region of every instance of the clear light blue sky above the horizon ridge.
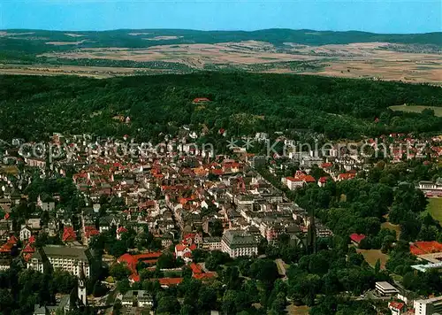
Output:
<path fill-rule="evenodd" d="M 0 29 L 442 31 L 442 0 L 0 0 Z"/>

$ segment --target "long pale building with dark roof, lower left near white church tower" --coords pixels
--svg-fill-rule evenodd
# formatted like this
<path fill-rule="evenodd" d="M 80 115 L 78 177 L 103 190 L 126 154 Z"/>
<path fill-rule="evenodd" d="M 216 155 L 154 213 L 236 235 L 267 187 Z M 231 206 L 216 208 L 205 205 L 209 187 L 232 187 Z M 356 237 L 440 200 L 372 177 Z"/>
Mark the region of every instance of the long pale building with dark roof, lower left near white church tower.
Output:
<path fill-rule="evenodd" d="M 64 270 L 80 276 L 81 265 L 87 277 L 90 275 L 92 254 L 86 247 L 48 245 L 36 250 L 27 262 L 27 268 L 43 273 L 45 268 Z"/>

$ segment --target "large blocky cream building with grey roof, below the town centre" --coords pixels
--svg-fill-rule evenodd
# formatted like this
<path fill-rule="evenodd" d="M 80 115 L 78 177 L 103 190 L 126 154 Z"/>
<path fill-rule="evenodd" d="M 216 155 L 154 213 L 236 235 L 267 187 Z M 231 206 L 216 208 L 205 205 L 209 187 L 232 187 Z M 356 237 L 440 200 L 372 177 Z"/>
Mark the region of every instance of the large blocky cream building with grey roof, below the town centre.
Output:
<path fill-rule="evenodd" d="M 247 231 L 228 230 L 221 239 L 221 250 L 232 258 L 257 255 L 258 240 Z"/>

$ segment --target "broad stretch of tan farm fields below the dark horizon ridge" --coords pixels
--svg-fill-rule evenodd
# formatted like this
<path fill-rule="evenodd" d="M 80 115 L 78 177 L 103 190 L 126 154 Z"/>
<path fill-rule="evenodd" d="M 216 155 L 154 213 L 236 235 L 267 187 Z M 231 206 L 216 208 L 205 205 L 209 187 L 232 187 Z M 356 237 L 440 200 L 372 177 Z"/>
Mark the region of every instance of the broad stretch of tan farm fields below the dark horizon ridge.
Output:
<path fill-rule="evenodd" d="M 286 43 L 278 48 L 270 42 L 244 41 L 157 45 L 142 49 L 89 48 L 44 53 L 39 57 L 57 60 L 115 60 L 171 62 L 195 70 L 224 69 L 265 73 L 302 73 L 385 81 L 442 84 L 442 55 L 388 50 L 388 42 L 355 42 L 322 46 Z M 304 62 L 293 69 L 290 62 Z M 269 67 L 268 65 L 274 66 Z M 266 65 L 253 67 L 251 65 Z"/>

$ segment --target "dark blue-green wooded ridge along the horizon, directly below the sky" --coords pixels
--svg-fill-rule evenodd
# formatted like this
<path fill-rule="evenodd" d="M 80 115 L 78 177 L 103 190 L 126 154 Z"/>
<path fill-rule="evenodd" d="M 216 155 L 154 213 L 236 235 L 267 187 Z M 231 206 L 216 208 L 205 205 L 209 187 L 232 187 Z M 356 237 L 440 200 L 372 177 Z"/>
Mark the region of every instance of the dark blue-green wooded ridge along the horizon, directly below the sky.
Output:
<path fill-rule="evenodd" d="M 392 42 L 442 46 L 442 33 L 373 34 L 358 31 L 332 32 L 308 29 L 263 29 L 259 31 L 197 31 L 186 29 L 118 29 L 101 32 L 65 32 L 32 29 L 0 31 L 0 50 L 19 50 L 42 53 L 70 50 L 72 46 L 50 45 L 47 42 L 72 42 L 76 48 L 147 48 L 164 44 L 216 43 L 242 41 L 270 42 L 275 46 L 284 42 L 306 45 L 347 44 L 352 42 Z"/>

